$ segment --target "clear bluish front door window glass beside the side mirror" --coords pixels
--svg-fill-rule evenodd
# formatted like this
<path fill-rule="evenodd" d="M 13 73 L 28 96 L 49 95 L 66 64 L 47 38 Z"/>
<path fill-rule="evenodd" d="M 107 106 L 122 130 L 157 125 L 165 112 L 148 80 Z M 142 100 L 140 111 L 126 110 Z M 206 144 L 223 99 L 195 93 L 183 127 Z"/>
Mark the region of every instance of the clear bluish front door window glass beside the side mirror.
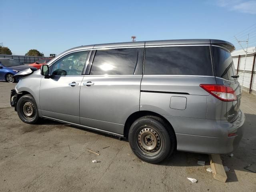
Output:
<path fill-rule="evenodd" d="M 82 75 L 88 51 L 68 54 L 60 58 L 52 66 L 52 75 Z"/>

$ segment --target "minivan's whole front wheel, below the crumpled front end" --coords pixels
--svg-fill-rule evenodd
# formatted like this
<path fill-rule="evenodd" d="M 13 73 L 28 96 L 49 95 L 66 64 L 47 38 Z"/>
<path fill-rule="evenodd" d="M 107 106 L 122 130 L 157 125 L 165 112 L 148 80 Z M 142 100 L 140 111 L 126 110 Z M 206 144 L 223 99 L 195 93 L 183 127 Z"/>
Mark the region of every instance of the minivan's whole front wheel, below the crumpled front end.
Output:
<path fill-rule="evenodd" d="M 31 94 L 23 95 L 17 102 L 17 113 L 19 118 L 28 124 L 35 124 L 38 119 L 38 108 Z"/>

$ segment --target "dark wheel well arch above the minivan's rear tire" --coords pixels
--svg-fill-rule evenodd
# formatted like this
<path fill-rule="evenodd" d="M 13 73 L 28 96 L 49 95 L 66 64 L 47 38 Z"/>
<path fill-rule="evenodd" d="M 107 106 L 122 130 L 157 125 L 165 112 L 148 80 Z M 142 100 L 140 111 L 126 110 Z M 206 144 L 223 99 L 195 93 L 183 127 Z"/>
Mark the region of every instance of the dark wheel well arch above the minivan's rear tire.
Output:
<path fill-rule="evenodd" d="M 164 118 L 162 115 L 160 115 L 158 113 L 155 113 L 155 112 L 152 112 L 152 111 L 137 111 L 137 112 L 131 114 L 127 118 L 127 120 L 124 124 L 124 137 L 125 138 L 128 138 L 129 130 L 130 130 L 130 127 L 131 127 L 132 123 L 136 119 L 141 118 L 143 116 L 157 116 L 157 117 L 160 117 L 162 120 L 164 120 L 169 125 L 170 129 L 172 129 L 172 131 L 174 132 L 174 129 L 173 129 L 172 125 L 170 124 L 170 122 L 166 118 Z M 175 140 L 176 140 L 176 136 L 175 136 Z"/>

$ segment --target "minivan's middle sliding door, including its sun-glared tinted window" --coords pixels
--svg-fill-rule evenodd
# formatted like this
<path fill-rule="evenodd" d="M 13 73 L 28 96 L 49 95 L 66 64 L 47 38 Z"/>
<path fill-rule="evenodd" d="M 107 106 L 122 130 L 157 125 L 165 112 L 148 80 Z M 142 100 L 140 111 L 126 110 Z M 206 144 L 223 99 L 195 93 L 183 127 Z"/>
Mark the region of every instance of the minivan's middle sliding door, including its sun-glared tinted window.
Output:
<path fill-rule="evenodd" d="M 144 48 L 97 50 L 80 90 L 80 123 L 117 135 L 139 110 Z"/>

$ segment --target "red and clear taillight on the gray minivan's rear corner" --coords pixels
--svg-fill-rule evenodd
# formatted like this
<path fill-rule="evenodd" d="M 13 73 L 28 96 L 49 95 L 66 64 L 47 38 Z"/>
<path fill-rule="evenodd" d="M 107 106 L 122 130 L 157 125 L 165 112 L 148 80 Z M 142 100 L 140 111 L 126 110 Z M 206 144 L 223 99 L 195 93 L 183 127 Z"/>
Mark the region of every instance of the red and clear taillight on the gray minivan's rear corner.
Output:
<path fill-rule="evenodd" d="M 235 91 L 231 87 L 215 84 L 200 84 L 200 87 L 222 101 L 236 100 Z"/>

